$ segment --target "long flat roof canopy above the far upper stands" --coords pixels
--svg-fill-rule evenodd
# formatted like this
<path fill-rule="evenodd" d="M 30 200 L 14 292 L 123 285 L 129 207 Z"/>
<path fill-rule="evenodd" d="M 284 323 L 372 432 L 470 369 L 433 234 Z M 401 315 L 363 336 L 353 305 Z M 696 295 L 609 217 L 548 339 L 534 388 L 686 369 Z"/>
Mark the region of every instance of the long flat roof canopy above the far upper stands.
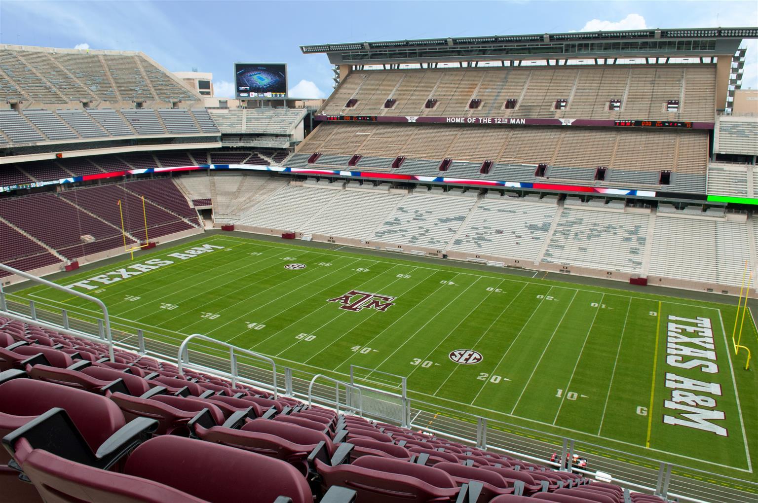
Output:
<path fill-rule="evenodd" d="M 758 28 L 624 30 L 301 45 L 332 64 L 590 58 L 708 58 L 733 55 Z"/>

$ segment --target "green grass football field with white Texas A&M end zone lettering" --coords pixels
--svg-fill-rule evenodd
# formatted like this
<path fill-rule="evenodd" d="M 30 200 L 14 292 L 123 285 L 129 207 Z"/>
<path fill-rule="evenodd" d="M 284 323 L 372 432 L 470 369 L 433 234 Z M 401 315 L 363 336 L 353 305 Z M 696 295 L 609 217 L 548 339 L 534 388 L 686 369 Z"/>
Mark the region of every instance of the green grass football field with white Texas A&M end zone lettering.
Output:
<path fill-rule="evenodd" d="M 124 325 L 202 333 L 338 378 L 351 364 L 395 373 L 432 405 L 755 480 L 758 380 L 731 351 L 734 305 L 218 235 L 57 283 L 83 280 L 74 289 Z M 20 295 L 94 314 L 53 289 Z M 678 361 L 701 364 L 669 363 L 670 330 Z M 756 342 L 747 321 L 753 354 Z M 453 361 L 460 349 L 481 361 Z M 667 387 L 672 375 L 697 383 Z M 692 411 L 713 415 L 692 427 Z"/>

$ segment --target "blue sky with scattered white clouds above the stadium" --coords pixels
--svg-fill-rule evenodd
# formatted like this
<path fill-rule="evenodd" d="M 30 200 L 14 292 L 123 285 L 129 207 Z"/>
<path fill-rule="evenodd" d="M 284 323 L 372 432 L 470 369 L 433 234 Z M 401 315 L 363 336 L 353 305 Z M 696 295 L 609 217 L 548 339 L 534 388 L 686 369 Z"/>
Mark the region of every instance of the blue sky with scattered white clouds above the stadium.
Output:
<path fill-rule="evenodd" d="M 35 2 L 0 0 L 0 43 L 141 51 L 171 71 L 213 73 L 233 93 L 233 63 L 285 62 L 290 95 L 323 98 L 334 84 L 324 54 L 300 45 L 447 36 L 643 28 L 756 27 L 756 0 L 653 2 Z M 743 89 L 758 89 L 758 41 Z"/>

